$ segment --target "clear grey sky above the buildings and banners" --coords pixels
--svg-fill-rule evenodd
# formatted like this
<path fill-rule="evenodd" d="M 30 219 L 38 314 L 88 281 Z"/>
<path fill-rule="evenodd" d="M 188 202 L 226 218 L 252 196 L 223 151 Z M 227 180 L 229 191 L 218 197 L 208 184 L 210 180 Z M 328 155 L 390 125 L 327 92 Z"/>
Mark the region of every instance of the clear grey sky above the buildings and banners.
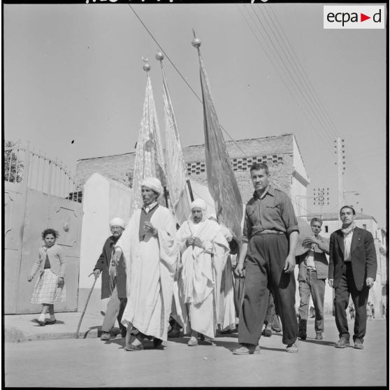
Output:
<path fill-rule="evenodd" d="M 387 31 L 324 29 L 322 3 L 4 4 L 5 140 L 29 141 L 72 172 L 78 159 L 133 152 L 142 57 L 164 131 L 161 48 L 131 7 L 180 71 L 164 59 L 183 147 L 204 143 L 194 29 L 225 139 L 294 133 L 308 196 L 329 188 L 322 211 L 337 212 L 342 138 L 345 202 L 386 227 Z M 319 212 L 313 198 L 307 209 Z"/>

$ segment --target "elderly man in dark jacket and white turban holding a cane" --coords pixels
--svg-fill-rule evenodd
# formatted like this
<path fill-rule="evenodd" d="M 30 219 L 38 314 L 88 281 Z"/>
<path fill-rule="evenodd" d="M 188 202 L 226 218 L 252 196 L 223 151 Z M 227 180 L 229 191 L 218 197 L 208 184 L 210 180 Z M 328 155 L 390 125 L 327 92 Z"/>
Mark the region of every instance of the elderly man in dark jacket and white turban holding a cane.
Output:
<path fill-rule="evenodd" d="M 95 277 L 101 273 L 101 299 L 110 298 L 106 315 L 101 326 L 101 340 L 110 340 L 110 332 L 118 320 L 122 337 L 126 336 L 126 326 L 122 325 L 122 314 L 126 306 L 126 270 L 123 259 L 119 259 L 117 265 L 111 261 L 113 246 L 122 236 L 124 221 L 118 217 L 110 220 L 112 236 L 108 237 L 103 245 L 101 255 L 94 268 Z"/>

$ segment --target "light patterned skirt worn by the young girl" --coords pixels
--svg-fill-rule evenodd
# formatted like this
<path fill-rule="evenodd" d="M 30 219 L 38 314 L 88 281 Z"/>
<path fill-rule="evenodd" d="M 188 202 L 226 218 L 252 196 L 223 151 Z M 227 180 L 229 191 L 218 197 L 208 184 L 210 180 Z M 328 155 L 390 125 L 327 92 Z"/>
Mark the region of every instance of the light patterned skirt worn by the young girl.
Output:
<path fill-rule="evenodd" d="M 34 292 L 31 296 L 31 303 L 47 303 L 66 301 L 66 289 L 57 287 L 58 277 L 52 273 L 50 268 L 45 269 L 36 281 Z"/>

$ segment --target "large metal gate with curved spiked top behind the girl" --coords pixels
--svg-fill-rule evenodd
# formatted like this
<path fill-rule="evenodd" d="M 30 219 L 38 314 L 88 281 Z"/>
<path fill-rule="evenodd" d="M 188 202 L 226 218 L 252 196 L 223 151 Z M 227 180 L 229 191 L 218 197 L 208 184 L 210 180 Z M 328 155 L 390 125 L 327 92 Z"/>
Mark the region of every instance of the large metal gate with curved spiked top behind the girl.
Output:
<path fill-rule="evenodd" d="M 4 312 L 41 312 L 30 298 L 38 274 L 27 282 L 41 232 L 59 232 L 57 244 L 66 258 L 66 302 L 56 303 L 56 311 L 77 311 L 80 236 L 82 222 L 81 191 L 66 168 L 58 161 L 29 150 L 29 145 L 4 148 Z"/>

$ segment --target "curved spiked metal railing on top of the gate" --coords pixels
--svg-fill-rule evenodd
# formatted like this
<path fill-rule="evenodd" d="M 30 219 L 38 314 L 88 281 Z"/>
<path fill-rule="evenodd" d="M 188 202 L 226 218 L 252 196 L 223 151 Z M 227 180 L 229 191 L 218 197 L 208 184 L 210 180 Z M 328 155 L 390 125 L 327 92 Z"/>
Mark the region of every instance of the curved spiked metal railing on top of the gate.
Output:
<path fill-rule="evenodd" d="M 24 184 L 27 188 L 71 201 L 82 201 L 81 187 L 66 167 L 59 161 L 30 150 L 29 145 L 4 147 L 3 174 L 8 182 Z"/>

